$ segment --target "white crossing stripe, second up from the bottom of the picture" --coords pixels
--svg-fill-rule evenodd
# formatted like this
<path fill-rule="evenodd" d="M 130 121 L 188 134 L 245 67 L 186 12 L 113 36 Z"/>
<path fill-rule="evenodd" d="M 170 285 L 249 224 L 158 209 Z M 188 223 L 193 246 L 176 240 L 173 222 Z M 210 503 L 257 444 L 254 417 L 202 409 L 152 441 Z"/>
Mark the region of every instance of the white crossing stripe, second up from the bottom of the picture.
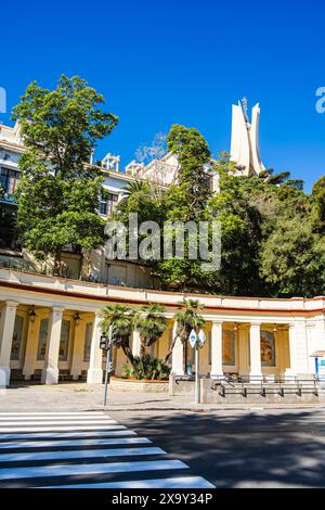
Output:
<path fill-rule="evenodd" d="M 186 469 L 181 460 L 147 460 L 140 462 L 108 462 L 98 464 L 53 464 L 30 468 L 0 469 L 0 480 L 69 476 L 75 474 L 130 473 Z"/>

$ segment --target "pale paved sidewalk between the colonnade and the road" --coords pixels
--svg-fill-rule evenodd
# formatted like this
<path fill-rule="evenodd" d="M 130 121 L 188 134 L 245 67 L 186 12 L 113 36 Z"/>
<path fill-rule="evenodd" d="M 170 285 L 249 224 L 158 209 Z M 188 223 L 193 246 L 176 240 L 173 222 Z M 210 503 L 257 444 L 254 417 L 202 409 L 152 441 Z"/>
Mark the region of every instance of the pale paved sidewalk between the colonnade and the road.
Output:
<path fill-rule="evenodd" d="M 9 390 L 0 390 L 0 412 L 4 411 L 47 411 L 99 410 L 103 409 L 104 386 L 98 384 L 70 383 L 58 385 L 17 384 Z M 112 411 L 190 411 L 213 412 L 250 409 L 308 409 L 324 408 L 324 404 L 269 404 L 269 405 L 195 405 L 188 397 L 169 397 L 161 393 L 125 393 L 109 388 L 107 410 Z"/>

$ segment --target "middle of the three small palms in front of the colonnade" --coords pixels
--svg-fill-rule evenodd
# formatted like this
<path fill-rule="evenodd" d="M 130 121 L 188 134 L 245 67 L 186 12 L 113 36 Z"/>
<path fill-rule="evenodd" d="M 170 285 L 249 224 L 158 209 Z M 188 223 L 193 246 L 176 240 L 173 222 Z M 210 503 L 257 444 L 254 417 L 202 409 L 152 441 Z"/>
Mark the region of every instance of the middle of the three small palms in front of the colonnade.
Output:
<path fill-rule="evenodd" d="M 158 304 L 142 306 L 135 316 L 134 328 L 141 340 L 140 357 L 143 358 L 145 347 L 153 345 L 164 333 L 168 324 L 165 307 Z"/>

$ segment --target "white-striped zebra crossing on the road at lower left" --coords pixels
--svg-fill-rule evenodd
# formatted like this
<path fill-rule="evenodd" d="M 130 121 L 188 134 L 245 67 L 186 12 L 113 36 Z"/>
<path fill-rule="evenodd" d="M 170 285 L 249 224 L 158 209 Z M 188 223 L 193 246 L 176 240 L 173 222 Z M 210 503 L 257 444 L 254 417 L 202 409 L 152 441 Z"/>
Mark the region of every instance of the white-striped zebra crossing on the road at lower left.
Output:
<path fill-rule="evenodd" d="M 0 412 L 0 488 L 213 488 L 102 411 Z"/>

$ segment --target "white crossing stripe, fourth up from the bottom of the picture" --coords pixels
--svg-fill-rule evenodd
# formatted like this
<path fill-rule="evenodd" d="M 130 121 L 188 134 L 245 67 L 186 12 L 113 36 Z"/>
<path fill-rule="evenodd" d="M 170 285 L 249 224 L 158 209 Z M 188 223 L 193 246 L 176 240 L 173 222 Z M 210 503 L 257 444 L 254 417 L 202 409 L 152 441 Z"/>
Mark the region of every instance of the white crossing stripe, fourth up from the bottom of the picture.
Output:
<path fill-rule="evenodd" d="M 140 443 L 152 443 L 146 437 L 116 437 L 114 439 L 56 439 L 56 441 L 18 441 L 0 442 L 0 450 L 3 448 L 50 448 L 56 446 L 104 446 L 104 445 L 133 445 Z M 0 457 L 1 460 L 1 457 Z"/>

